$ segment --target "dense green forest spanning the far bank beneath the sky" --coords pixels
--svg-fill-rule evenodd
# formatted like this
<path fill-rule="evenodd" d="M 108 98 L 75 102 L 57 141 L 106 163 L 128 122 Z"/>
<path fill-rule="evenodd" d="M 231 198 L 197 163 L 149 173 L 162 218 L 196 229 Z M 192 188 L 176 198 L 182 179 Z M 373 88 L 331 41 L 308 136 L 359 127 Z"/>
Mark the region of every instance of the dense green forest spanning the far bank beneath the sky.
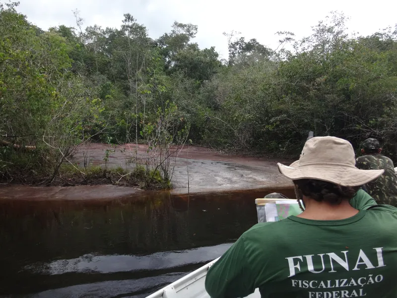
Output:
<path fill-rule="evenodd" d="M 0 5 L 0 176 L 51 177 L 84 142 L 193 144 L 287 156 L 309 131 L 358 149 L 368 137 L 397 159 L 397 27 L 348 34 L 331 13 L 276 49 L 225 33 L 228 60 L 174 22 L 157 39 L 131 14 L 119 28 L 38 28 Z M 84 29 L 85 28 L 85 29 Z M 161 170 L 163 169 L 163 171 Z M 153 170 L 153 169 L 152 169 Z M 167 170 L 157 166 L 168 179 Z"/>

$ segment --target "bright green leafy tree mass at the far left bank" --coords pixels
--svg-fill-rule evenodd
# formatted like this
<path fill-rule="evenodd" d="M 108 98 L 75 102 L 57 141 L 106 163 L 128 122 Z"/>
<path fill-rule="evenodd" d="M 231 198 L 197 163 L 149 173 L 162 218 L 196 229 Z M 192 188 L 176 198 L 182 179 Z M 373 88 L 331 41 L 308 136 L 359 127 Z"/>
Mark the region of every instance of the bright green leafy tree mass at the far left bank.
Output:
<path fill-rule="evenodd" d="M 1 153 L 1 174 L 23 170 L 51 182 L 82 141 L 81 119 L 100 110 L 70 72 L 66 38 L 37 30 L 15 5 L 1 7 L 0 34 L 0 132 L 3 144 L 12 145 Z"/>

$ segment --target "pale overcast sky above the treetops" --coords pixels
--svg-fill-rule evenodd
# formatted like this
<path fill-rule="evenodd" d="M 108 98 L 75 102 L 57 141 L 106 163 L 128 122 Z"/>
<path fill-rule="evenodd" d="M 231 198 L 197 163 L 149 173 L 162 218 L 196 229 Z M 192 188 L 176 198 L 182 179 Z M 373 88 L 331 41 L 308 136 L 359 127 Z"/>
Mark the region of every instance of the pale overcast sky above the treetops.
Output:
<path fill-rule="evenodd" d="M 84 25 L 120 27 L 124 13 L 144 24 L 149 36 L 157 38 L 171 30 L 176 20 L 199 26 L 200 48 L 215 46 L 227 58 L 227 40 L 222 32 L 239 31 L 277 47 L 276 31 L 292 31 L 298 38 L 331 10 L 351 19 L 350 31 L 369 35 L 397 23 L 397 0 L 20 0 L 18 11 L 42 29 L 66 25 L 75 27 L 72 10 L 78 9 Z"/>

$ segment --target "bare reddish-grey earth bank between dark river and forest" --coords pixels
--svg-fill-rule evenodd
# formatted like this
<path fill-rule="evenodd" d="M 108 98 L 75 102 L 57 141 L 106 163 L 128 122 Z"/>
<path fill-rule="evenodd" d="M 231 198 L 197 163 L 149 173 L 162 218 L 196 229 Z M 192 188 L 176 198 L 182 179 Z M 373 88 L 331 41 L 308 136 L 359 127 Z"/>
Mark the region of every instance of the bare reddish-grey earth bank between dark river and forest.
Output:
<path fill-rule="evenodd" d="M 145 147 L 127 144 L 109 147 L 105 144 L 91 144 L 82 147 L 74 160 L 82 166 L 84 157 L 92 165 L 105 166 L 106 149 L 112 149 L 106 164 L 108 167 L 122 166 L 132 169 L 132 158 L 142 161 L 146 158 Z M 137 153 L 135 153 L 137 152 Z M 247 157 L 227 155 L 202 147 L 185 147 L 177 159 L 173 158 L 174 168 L 172 193 L 209 193 L 218 191 L 262 189 L 264 191 L 290 188 L 292 183 L 277 170 L 276 163 L 291 163 L 287 159 Z M 189 185 L 189 188 L 188 188 Z M 0 188 L 0 199 L 15 200 L 113 200 L 141 196 L 141 190 L 112 185 L 73 186 L 73 187 L 32 187 L 10 185 Z"/>

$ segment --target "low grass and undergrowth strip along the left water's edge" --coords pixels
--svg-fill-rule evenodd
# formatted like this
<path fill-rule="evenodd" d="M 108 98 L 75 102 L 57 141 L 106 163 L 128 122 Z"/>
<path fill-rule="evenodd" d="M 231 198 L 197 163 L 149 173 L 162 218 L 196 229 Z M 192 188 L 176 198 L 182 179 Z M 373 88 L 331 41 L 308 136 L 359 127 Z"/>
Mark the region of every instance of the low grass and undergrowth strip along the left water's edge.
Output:
<path fill-rule="evenodd" d="M 112 184 L 146 190 L 172 188 L 171 182 L 159 170 L 142 165 L 132 169 L 106 165 L 80 168 L 77 164 L 63 162 L 55 171 L 52 164 L 39 152 L 19 152 L 3 147 L 0 151 L 0 183 L 37 186 Z"/>

